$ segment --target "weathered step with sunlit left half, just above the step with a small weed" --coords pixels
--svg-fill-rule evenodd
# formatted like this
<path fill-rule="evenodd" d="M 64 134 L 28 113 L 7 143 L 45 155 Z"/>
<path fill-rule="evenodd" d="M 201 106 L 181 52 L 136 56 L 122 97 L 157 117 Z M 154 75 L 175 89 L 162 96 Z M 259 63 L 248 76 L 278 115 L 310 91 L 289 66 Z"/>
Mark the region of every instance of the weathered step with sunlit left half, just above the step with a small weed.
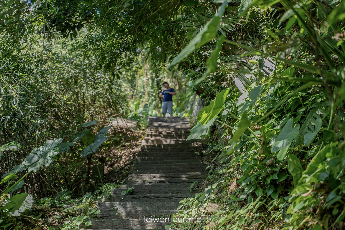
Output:
<path fill-rule="evenodd" d="M 200 179 L 200 178 L 205 178 L 205 174 L 203 172 L 195 172 L 195 173 L 186 173 L 186 174 L 157 174 L 157 173 L 130 173 L 128 175 L 129 180 L 133 181 L 156 181 L 156 180 L 187 180 L 187 179 Z"/>

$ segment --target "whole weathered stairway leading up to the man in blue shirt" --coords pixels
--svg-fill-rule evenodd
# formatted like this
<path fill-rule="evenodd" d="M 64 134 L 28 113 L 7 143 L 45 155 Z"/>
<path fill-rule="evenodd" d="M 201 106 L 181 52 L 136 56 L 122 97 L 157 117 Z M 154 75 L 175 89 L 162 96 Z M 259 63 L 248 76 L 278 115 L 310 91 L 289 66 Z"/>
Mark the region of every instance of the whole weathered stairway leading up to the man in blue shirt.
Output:
<path fill-rule="evenodd" d="M 91 220 L 92 225 L 83 228 L 165 229 L 171 222 L 148 222 L 146 218 L 169 218 L 177 212 L 180 200 L 193 196 L 190 185 L 204 180 L 205 166 L 194 153 L 197 146 L 186 142 L 190 132 L 188 121 L 178 117 L 148 119 L 149 127 L 133 173 L 119 189 L 112 190 L 105 202 L 98 204 L 100 219 Z M 132 192 L 121 194 L 129 188 Z"/>

